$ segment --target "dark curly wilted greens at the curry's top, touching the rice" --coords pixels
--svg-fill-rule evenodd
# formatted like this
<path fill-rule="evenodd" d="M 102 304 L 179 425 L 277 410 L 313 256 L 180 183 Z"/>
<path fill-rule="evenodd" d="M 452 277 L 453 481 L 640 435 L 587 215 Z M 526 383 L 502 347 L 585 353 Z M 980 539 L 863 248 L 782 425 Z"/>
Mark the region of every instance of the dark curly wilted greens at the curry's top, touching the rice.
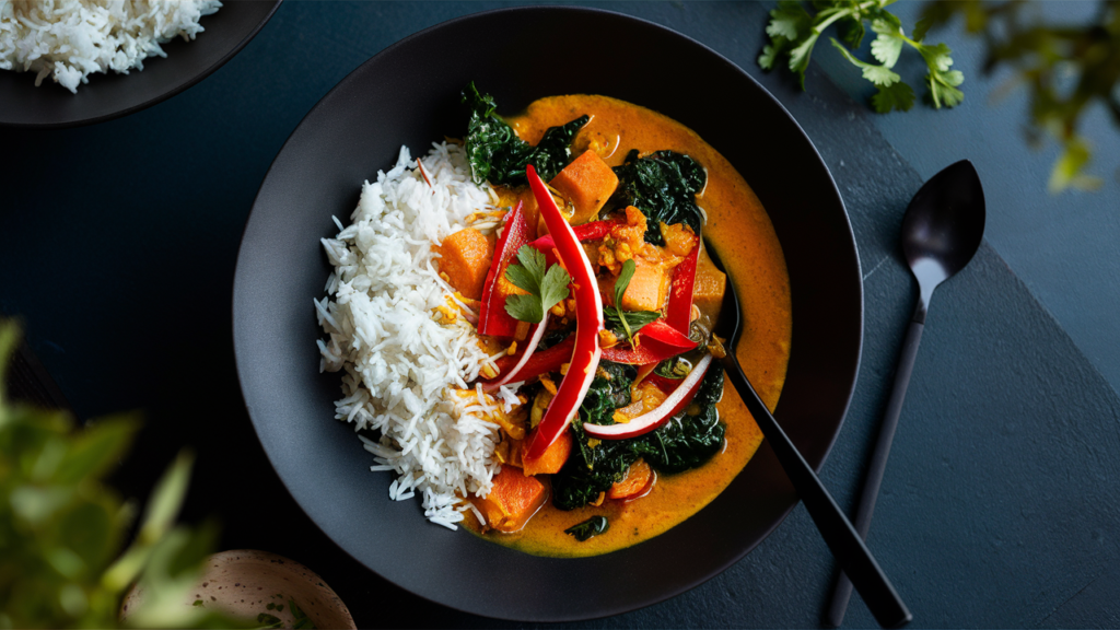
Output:
<path fill-rule="evenodd" d="M 533 165 L 548 182 L 571 161 L 571 141 L 589 120 L 581 115 L 560 127 L 551 127 L 536 146 L 522 140 L 495 112 L 489 94 L 480 94 L 474 82 L 463 90 L 463 102 L 470 110 L 466 150 L 472 178 L 476 184 L 517 185 L 525 182 L 525 166 Z"/>

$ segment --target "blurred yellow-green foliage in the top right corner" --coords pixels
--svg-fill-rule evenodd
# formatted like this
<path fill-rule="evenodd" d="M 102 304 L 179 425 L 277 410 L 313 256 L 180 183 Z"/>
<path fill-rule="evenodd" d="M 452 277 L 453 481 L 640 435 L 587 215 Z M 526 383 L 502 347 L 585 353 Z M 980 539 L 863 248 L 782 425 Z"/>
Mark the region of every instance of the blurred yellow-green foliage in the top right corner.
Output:
<path fill-rule="evenodd" d="M 984 72 L 1015 71 L 1014 83 L 1030 99 L 1030 139 L 1048 135 L 1062 145 L 1052 192 L 1093 189 L 1101 179 L 1085 174 L 1092 149 L 1077 126 L 1095 103 L 1120 126 L 1120 1 L 1101 0 L 1095 19 L 1080 26 L 1046 24 L 1038 8 L 1026 0 L 941 0 L 925 6 L 923 20 L 936 26 L 961 16 L 965 30 L 984 39 Z"/>

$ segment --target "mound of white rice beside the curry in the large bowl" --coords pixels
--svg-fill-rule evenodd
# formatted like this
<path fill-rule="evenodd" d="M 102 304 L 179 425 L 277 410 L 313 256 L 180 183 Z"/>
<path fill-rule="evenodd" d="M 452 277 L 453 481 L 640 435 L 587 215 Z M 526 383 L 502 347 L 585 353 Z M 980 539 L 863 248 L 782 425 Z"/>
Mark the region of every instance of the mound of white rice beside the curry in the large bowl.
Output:
<path fill-rule="evenodd" d="M 494 399 L 452 393 L 466 389 L 491 360 L 464 317 L 437 321 L 433 309 L 454 293 L 438 275 L 432 245 L 485 211 L 489 191 L 470 180 L 463 148 L 437 143 L 423 159 L 429 186 L 401 148 L 396 165 L 366 182 L 351 224 L 324 239 L 335 271 L 328 297 L 316 300 L 320 369 L 344 370 L 343 398 L 335 417 L 355 430 L 373 453 L 374 471 L 393 471 L 390 499 L 417 491 L 424 516 L 455 529 L 469 493 L 489 493 L 500 470 L 494 447 L 501 439 L 487 415 L 515 400 L 512 389 Z M 333 299 L 332 299 L 333 297 Z"/>

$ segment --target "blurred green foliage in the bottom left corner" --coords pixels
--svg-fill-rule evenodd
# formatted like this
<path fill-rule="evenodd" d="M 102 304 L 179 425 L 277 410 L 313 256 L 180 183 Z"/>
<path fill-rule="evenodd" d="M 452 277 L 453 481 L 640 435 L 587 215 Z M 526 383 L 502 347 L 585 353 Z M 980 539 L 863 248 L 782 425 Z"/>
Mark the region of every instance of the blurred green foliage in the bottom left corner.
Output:
<path fill-rule="evenodd" d="M 131 626 L 225 626 L 183 605 L 217 536 L 213 524 L 175 525 L 193 455 L 180 453 L 156 484 L 129 543 L 139 510 L 103 479 L 139 419 L 113 416 L 80 428 L 64 411 L 9 400 L 3 377 L 19 339 L 17 325 L 0 321 L 0 628 L 115 628 L 137 580 L 146 597 L 130 611 Z"/>

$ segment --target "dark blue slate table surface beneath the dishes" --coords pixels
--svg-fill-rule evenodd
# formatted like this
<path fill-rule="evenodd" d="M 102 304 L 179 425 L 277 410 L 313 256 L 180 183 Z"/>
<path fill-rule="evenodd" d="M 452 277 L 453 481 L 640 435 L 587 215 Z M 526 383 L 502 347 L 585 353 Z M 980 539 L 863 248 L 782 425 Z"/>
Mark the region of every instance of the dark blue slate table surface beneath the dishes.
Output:
<path fill-rule="evenodd" d="M 86 128 L 0 129 L 0 313 L 24 318 L 29 346 L 80 417 L 144 411 L 147 427 L 114 483 L 147 495 L 192 445 L 199 458 L 184 518 L 216 515 L 223 548 L 309 565 L 360 627 L 517 624 L 381 580 L 288 495 L 237 389 L 237 244 L 269 164 L 332 86 L 411 33 L 504 6 L 288 0 L 241 54 L 167 102 Z M 933 36 L 958 50 L 965 104 L 877 117 L 858 73 L 823 50 L 808 93 L 757 68 L 768 2 L 594 6 L 666 25 L 738 64 L 783 102 L 832 170 L 866 291 L 857 392 L 821 471 L 841 506 L 853 504 L 916 297 L 896 244 L 903 211 L 941 167 L 977 164 L 987 241 L 935 294 L 869 546 L 914 612 L 912 627 L 1120 626 L 1116 178 L 1105 176 L 1098 193 L 1047 196 L 1054 151 L 1026 148 L 1025 99 L 986 102 L 1000 77 L 980 75 L 982 52 L 960 29 Z M 897 7 L 904 24 L 918 11 Z M 1091 8 L 1066 3 L 1061 12 L 1077 18 Z M 1107 173 L 1120 163 L 1120 143 L 1096 113 L 1090 132 Z M 706 584 L 572 626 L 818 627 L 834 572 L 799 506 Z M 874 626 L 858 597 L 844 626 Z"/>

